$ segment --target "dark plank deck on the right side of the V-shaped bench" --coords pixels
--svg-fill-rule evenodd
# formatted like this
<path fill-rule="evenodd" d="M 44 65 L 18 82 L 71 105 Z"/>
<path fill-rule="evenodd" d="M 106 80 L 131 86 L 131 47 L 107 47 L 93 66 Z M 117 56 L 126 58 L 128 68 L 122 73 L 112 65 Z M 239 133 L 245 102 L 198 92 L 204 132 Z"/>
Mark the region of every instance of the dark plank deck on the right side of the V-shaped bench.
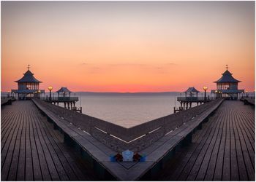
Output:
<path fill-rule="evenodd" d="M 156 178 L 164 181 L 255 181 L 255 111 L 226 100 Z"/>

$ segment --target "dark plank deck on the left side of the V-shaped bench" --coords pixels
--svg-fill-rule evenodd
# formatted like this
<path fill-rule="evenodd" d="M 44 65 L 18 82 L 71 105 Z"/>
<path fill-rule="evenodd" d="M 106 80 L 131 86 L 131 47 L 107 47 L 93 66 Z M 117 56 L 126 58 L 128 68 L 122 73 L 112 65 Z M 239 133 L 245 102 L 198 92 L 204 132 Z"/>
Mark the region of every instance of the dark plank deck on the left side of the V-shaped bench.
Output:
<path fill-rule="evenodd" d="M 1 109 L 1 181 L 97 180 L 31 100 Z"/>

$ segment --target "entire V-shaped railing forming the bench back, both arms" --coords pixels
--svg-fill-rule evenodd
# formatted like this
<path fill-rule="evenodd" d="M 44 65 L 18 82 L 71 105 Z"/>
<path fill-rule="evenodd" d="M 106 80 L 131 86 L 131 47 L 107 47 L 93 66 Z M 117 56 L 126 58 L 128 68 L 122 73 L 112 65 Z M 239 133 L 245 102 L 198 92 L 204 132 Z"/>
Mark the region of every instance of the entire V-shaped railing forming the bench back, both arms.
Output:
<path fill-rule="evenodd" d="M 212 100 L 203 105 L 189 108 L 176 114 L 163 116 L 159 119 L 154 119 L 130 128 L 121 127 L 102 119 L 70 111 L 66 108 L 44 102 L 43 100 L 34 99 L 34 102 L 56 114 L 56 116 L 59 116 L 59 119 L 64 119 L 81 130 L 88 132 L 94 138 L 97 138 L 116 151 L 125 149 L 140 151 L 151 145 L 151 143 L 154 143 L 154 141 L 159 140 L 159 138 L 162 138 L 168 132 L 176 130 L 176 128 L 184 123 L 196 119 L 197 116 L 200 116 L 200 114 L 203 114 L 209 108 L 216 106 L 220 102 L 220 99 Z"/>

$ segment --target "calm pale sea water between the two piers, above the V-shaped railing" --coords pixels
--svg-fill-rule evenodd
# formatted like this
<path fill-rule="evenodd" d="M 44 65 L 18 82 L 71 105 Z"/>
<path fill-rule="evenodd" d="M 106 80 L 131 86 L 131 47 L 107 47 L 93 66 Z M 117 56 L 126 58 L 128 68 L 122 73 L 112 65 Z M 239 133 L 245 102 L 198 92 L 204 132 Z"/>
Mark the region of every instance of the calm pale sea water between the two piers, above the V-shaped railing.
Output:
<path fill-rule="evenodd" d="M 132 127 L 152 119 L 173 114 L 174 100 L 174 95 L 83 95 L 81 96 L 81 106 L 83 107 L 83 114 L 124 127 Z M 76 106 L 80 106 L 80 101 Z M 176 107 L 178 106 L 180 104 L 176 101 Z"/>

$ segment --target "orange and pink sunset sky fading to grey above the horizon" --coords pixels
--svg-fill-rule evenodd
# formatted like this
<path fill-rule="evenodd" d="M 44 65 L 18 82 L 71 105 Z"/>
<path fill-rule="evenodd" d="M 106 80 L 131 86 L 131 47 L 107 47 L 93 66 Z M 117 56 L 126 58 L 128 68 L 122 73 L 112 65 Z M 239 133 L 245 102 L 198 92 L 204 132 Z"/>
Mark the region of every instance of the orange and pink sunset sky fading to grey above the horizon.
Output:
<path fill-rule="evenodd" d="M 255 90 L 254 1 L 1 1 L 1 91 L 31 65 L 72 91 Z"/>

